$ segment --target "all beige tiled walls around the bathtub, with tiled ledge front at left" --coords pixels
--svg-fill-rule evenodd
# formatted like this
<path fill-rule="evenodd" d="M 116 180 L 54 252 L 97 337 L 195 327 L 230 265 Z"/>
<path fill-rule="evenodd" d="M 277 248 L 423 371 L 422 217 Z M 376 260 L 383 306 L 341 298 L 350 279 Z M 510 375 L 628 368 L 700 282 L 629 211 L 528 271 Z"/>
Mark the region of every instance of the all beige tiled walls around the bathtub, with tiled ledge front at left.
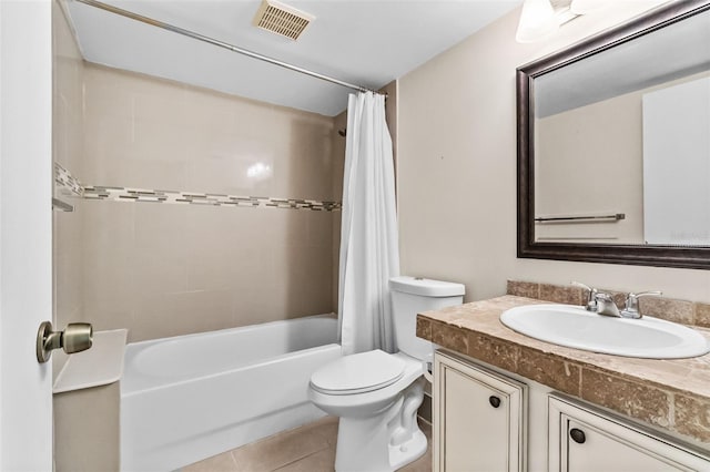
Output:
<path fill-rule="evenodd" d="M 85 63 L 53 10 L 54 196 L 74 206 L 53 214 L 54 324 L 139 341 L 334 311 L 334 119 Z M 55 397 L 58 471 L 118 469 L 116 386 Z"/>

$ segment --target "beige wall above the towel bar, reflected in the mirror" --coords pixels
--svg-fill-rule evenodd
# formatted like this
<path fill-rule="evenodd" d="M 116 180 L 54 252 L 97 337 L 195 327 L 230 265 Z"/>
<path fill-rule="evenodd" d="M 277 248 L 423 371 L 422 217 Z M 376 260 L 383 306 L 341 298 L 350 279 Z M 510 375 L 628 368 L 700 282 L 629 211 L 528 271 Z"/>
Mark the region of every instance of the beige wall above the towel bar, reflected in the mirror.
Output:
<path fill-rule="evenodd" d="M 535 216 L 626 215 L 615 223 L 537 224 L 536 240 L 643 244 L 641 96 L 627 93 L 536 120 Z"/>

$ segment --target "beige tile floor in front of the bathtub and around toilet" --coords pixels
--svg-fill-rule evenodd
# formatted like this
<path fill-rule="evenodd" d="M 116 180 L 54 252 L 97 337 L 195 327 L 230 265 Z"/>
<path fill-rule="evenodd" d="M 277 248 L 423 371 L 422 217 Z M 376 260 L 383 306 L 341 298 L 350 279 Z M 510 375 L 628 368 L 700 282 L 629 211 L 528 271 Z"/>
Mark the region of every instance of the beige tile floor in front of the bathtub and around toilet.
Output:
<path fill-rule="evenodd" d="M 423 421 L 419 425 L 429 447 L 400 472 L 432 471 L 432 427 Z M 336 439 L 337 418 L 327 417 L 187 465 L 181 472 L 332 472 Z"/>

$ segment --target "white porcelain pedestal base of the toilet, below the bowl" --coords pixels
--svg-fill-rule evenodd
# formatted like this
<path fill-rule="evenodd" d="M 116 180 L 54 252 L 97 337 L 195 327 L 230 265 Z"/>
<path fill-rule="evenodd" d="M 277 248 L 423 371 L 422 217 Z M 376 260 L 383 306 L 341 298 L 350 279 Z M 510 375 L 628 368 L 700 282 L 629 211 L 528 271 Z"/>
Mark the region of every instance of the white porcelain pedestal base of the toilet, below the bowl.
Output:
<path fill-rule="evenodd" d="M 417 424 L 424 378 L 415 380 L 394 402 L 368 418 L 341 417 L 335 470 L 392 472 L 426 453 L 427 440 Z"/>

